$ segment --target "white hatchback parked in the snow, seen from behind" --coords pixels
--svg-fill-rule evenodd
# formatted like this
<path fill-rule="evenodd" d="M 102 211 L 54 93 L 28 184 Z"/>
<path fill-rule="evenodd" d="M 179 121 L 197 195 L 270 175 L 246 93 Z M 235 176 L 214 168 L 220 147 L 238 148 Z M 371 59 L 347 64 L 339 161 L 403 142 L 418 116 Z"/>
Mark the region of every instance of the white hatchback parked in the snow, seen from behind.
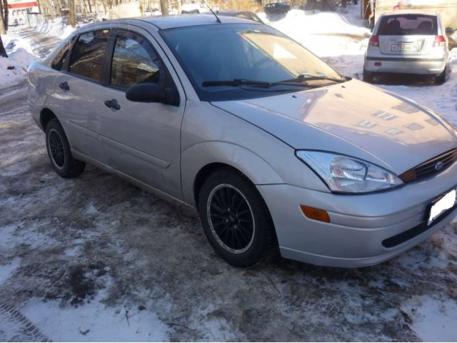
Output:
<path fill-rule="evenodd" d="M 448 38 L 438 14 L 394 11 L 379 17 L 368 41 L 363 81 L 377 73 L 434 74 L 446 81 Z"/>

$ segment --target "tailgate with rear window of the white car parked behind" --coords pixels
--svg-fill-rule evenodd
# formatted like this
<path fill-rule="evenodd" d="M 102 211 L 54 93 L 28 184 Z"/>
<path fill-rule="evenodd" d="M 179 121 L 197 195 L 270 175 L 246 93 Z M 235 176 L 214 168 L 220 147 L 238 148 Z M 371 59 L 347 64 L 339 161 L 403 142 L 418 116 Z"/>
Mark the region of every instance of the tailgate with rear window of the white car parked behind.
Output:
<path fill-rule="evenodd" d="M 438 23 L 436 16 L 426 14 L 383 16 L 377 34 L 381 54 L 426 55 L 433 48 Z"/>

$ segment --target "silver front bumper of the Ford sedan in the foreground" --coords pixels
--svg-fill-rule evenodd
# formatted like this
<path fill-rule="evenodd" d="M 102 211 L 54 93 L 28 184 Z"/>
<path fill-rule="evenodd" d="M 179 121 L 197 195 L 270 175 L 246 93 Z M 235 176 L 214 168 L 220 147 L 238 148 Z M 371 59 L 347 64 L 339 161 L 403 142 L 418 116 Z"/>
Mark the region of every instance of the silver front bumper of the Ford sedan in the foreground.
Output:
<path fill-rule="evenodd" d="M 446 226 L 456 208 L 393 247 L 383 244 L 420 227 L 433 199 L 456 185 L 457 163 L 426 181 L 373 194 L 331 194 L 287 184 L 257 187 L 270 209 L 283 257 L 331 267 L 364 267 L 391 259 Z M 308 219 L 301 204 L 325 209 L 331 223 Z"/>

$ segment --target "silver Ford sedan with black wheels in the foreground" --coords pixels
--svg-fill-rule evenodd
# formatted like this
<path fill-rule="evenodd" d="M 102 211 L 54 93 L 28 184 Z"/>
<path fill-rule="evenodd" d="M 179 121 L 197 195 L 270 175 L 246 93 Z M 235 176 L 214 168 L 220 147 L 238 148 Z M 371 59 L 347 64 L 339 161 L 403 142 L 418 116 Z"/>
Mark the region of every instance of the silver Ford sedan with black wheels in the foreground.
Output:
<path fill-rule="evenodd" d="M 94 164 L 198 214 L 234 266 L 377 264 L 456 215 L 452 126 L 254 21 L 84 26 L 31 64 L 29 106 L 57 174 Z"/>

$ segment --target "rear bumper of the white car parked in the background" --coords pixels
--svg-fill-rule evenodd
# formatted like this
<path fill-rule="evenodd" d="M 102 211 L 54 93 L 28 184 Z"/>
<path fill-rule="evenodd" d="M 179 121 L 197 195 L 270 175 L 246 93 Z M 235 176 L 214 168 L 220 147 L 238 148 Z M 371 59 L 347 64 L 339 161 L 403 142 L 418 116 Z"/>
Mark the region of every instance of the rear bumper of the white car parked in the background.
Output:
<path fill-rule="evenodd" d="M 446 59 L 366 56 L 364 67 L 376 73 L 440 74 L 446 67 Z"/>

